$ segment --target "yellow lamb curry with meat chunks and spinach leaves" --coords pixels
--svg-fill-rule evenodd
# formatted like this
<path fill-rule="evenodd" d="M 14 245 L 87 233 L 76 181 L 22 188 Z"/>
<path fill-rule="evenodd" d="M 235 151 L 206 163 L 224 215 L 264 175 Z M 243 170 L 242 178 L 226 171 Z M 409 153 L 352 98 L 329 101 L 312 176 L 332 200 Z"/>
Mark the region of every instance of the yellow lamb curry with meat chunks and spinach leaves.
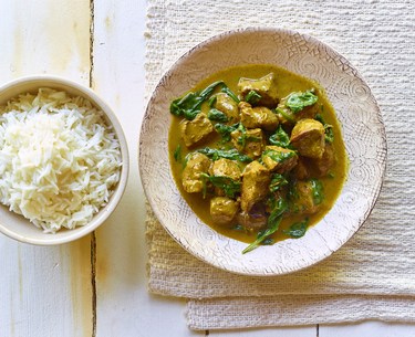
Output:
<path fill-rule="evenodd" d="M 195 213 L 224 235 L 297 239 L 333 206 L 346 176 L 322 87 L 272 65 L 227 69 L 170 104 L 170 167 Z"/>

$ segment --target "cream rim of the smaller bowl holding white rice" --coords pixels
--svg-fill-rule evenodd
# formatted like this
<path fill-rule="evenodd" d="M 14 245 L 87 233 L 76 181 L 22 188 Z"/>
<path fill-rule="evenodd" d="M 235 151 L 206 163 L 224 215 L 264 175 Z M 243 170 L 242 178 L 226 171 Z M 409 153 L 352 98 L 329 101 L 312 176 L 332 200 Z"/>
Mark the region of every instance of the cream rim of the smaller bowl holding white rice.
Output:
<path fill-rule="evenodd" d="M 39 85 L 35 85 L 35 83 L 38 82 L 39 82 Z M 42 82 L 44 82 L 44 84 L 42 84 Z M 33 84 L 33 87 L 38 87 L 38 88 L 40 87 L 53 88 L 53 86 L 66 86 L 66 87 L 70 87 L 71 89 L 80 92 L 80 96 L 83 96 L 84 98 L 90 101 L 96 108 L 98 108 L 98 110 L 101 110 L 105 115 L 105 117 L 110 120 L 112 127 L 114 128 L 114 133 L 120 141 L 120 151 L 122 156 L 122 168 L 121 168 L 120 180 L 115 187 L 114 193 L 110 198 L 110 201 L 103 208 L 101 208 L 97 213 L 93 215 L 92 220 L 87 224 L 83 227 L 76 227 L 72 230 L 62 229 L 61 231 L 58 231 L 56 233 L 42 233 L 42 229 L 39 229 L 41 234 L 50 235 L 50 236 L 45 236 L 48 239 L 39 239 L 39 238 L 35 239 L 35 238 L 30 238 L 30 236 L 28 238 L 27 235 L 23 235 L 19 232 L 10 230 L 0 220 L 0 232 L 19 242 L 33 244 L 33 245 L 44 245 L 44 246 L 69 243 L 74 240 L 81 239 L 85 236 L 86 234 L 96 230 L 112 214 L 112 212 L 116 209 L 120 201 L 122 200 L 122 197 L 127 186 L 128 176 L 129 176 L 128 144 L 127 144 L 123 127 L 117 116 L 115 115 L 113 108 L 91 87 L 85 86 L 75 81 L 68 80 L 63 76 L 59 76 L 59 75 L 32 74 L 32 75 L 20 76 L 20 77 L 17 77 L 14 80 L 11 80 L 2 84 L 0 86 L 0 95 L 2 95 L 6 91 L 18 88 L 19 86 L 24 85 L 24 84 Z M 65 89 L 62 88 L 62 91 L 65 91 Z M 15 95 L 11 95 L 11 97 L 17 97 L 19 94 L 24 94 L 24 93 L 28 93 L 28 91 L 23 89 Z M 70 95 L 75 96 L 72 93 L 70 93 Z M 7 208 L 6 206 L 2 206 L 2 207 Z M 25 218 L 23 219 L 28 221 L 28 224 L 33 225 L 35 228 L 35 225 L 30 223 L 28 219 Z M 53 236 L 53 235 L 56 235 L 56 236 Z"/>

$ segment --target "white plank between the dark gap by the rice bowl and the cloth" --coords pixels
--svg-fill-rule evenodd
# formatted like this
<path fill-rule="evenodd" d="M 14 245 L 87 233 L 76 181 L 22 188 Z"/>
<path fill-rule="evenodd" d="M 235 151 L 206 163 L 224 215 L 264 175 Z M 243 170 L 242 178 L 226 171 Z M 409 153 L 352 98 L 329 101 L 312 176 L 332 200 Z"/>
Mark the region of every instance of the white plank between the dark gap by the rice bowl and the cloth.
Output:
<path fill-rule="evenodd" d="M 94 89 L 114 108 L 129 146 L 128 187 L 96 231 L 97 329 L 102 336 L 204 336 L 186 326 L 185 302 L 147 292 L 144 192 L 137 167 L 144 114 L 145 0 L 95 3 Z"/>

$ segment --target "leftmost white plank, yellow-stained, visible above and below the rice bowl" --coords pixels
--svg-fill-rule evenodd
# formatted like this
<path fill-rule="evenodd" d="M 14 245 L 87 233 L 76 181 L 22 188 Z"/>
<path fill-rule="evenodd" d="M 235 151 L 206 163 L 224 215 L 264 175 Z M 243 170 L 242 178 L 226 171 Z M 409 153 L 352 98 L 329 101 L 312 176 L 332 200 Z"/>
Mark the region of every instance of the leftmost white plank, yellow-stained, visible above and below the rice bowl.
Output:
<path fill-rule="evenodd" d="M 90 1 L 2 0 L 0 82 L 35 73 L 89 83 Z M 32 246 L 0 235 L 0 336 L 91 336 L 91 238 Z"/>

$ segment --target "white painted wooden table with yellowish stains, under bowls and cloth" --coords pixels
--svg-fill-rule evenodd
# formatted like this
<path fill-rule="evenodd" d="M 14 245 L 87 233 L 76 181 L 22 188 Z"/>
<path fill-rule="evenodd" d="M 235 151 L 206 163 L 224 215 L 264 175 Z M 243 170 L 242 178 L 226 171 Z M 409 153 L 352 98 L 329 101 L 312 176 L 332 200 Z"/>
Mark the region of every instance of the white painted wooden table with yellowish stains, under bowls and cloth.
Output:
<path fill-rule="evenodd" d="M 414 325 L 193 333 L 185 302 L 146 287 L 137 135 L 144 114 L 145 0 L 0 0 L 0 82 L 35 73 L 90 85 L 129 141 L 125 196 L 94 234 L 54 248 L 0 235 L 0 336 L 415 336 Z"/>

